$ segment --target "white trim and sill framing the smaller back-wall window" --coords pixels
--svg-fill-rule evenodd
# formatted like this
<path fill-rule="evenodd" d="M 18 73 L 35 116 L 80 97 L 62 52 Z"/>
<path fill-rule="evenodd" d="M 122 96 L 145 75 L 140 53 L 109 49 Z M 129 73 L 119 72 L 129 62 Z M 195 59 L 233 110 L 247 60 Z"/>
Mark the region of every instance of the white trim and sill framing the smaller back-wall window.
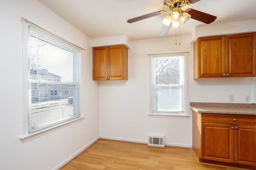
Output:
<path fill-rule="evenodd" d="M 188 118 L 188 53 L 166 53 L 166 54 L 153 54 L 149 55 L 149 113 L 150 117 L 167 117 L 167 118 Z M 176 113 L 156 113 L 152 112 L 152 57 L 166 56 L 166 55 L 184 55 L 184 114 Z"/>

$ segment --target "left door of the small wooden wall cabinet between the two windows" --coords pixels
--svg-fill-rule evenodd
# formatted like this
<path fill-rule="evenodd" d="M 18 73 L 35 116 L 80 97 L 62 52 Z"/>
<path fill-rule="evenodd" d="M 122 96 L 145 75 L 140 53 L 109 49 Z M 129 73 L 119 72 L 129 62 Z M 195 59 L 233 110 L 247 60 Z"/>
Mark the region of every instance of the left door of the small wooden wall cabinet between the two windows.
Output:
<path fill-rule="evenodd" d="M 93 49 L 93 80 L 106 80 L 108 77 L 108 47 Z"/>

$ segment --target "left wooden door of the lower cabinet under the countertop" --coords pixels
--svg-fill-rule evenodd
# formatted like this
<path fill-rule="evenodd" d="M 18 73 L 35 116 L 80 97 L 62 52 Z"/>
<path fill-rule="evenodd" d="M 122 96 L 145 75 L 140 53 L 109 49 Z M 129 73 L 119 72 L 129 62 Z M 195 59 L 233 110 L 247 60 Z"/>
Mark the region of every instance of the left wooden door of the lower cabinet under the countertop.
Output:
<path fill-rule="evenodd" d="M 233 125 L 202 123 L 202 159 L 234 162 Z"/>

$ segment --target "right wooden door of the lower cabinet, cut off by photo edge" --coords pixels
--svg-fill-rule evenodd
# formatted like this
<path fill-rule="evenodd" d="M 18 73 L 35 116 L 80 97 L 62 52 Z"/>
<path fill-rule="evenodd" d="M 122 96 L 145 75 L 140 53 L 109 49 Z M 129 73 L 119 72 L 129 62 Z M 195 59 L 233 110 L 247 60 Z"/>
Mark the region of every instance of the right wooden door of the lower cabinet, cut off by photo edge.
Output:
<path fill-rule="evenodd" d="M 256 166 L 256 126 L 235 125 L 235 163 Z"/>

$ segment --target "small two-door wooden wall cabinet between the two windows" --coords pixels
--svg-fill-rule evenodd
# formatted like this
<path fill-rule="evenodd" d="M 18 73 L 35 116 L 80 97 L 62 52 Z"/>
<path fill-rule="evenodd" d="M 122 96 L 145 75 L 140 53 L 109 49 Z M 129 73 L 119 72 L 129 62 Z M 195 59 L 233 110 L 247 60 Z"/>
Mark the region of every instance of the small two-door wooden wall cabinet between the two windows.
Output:
<path fill-rule="evenodd" d="M 124 45 L 93 48 L 93 80 L 127 80 L 128 49 Z"/>

